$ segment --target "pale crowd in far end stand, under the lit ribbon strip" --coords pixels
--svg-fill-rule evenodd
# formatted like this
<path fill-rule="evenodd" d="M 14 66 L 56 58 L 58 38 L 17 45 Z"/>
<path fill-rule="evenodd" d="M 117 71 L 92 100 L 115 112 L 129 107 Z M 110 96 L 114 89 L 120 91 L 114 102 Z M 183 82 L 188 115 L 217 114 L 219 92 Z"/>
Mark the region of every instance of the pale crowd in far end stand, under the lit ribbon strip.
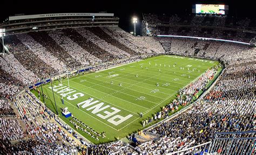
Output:
<path fill-rule="evenodd" d="M 255 48 L 248 45 L 187 38 L 163 37 L 159 41 L 169 54 L 219 60 L 230 65 L 251 62 L 254 59 Z M 198 47 L 198 44 L 203 47 Z"/>

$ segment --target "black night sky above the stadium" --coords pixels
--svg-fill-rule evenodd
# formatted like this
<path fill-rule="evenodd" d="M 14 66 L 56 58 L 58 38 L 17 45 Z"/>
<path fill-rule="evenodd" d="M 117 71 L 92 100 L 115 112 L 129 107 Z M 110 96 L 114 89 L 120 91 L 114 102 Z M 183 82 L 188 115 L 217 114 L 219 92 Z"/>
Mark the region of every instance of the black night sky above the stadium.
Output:
<path fill-rule="evenodd" d="M 3 2 L 2 2 L 3 1 Z M 99 11 L 107 11 L 114 13 L 119 17 L 119 26 L 126 31 L 133 29 L 131 18 L 137 16 L 142 19 L 142 13 L 191 13 L 192 4 L 226 4 L 229 5 L 230 16 L 234 17 L 254 17 L 255 4 L 253 0 L 244 1 L 192 1 L 192 0 L 169 0 L 169 1 L 133 1 L 133 0 L 1 0 L 0 4 L 0 20 L 15 15 L 17 13 L 25 13 L 26 15 L 39 13 L 68 13 L 83 12 L 93 13 Z M 4 9 L 4 11 L 2 10 Z"/>

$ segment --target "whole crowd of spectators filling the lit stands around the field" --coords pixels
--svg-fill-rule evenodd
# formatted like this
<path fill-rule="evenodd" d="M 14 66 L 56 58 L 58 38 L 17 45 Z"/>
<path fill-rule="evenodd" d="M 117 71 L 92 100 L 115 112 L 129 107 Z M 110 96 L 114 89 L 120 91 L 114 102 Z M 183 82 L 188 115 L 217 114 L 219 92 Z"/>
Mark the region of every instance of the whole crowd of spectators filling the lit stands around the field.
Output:
<path fill-rule="evenodd" d="M 173 16 L 169 22 L 179 20 L 178 17 Z M 223 24 L 222 19 L 218 21 L 220 25 Z M 0 57 L 0 95 L 14 102 L 18 116 L 14 114 L 9 101 L 0 100 L 0 115 L 11 115 L 11 118 L 0 118 L 0 147 L 3 153 L 72 154 L 77 152 L 75 146 L 82 142 L 88 146 L 89 154 L 163 154 L 211 141 L 215 132 L 253 130 L 255 48 L 194 39 L 160 38 L 158 42 L 152 37 L 133 37 L 118 28 L 98 29 L 100 33 L 86 28 L 72 30 L 80 34 L 77 37 L 71 36 L 71 30 L 50 31 L 46 34 L 56 43 L 48 43 L 49 45 L 39 44 L 38 42 L 42 43 L 42 40 L 31 37 L 32 34 L 17 34 L 13 42 L 6 42 L 11 53 Z M 98 35 L 103 32 L 105 37 L 99 37 Z M 83 42 L 78 41 L 81 36 L 88 40 L 88 45 L 92 46 L 92 49 L 98 49 L 103 55 L 99 57 L 88 50 L 88 46 L 82 46 Z M 112 39 L 106 41 L 108 37 Z M 126 46 L 123 50 L 118 48 L 121 44 Z M 51 45 L 58 50 L 49 49 Z M 53 54 L 53 50 L 59 53 Z M 29 57 L 22 57 L 21 53 L 28 54 Z M 135 150 L 120 141 L 102 145 L 87 144 L 78 138 L 75 131 L 42 105 L 30 91 L 23 91 L 14 97 L 21 90 L 21 86 L 28 86 L 38 81 L 39 77 L 49 77 L 51 73 L 59 74 L 83 65 L 105 62 L 105 64 L 92 67 L 91 71 L 98 71 L 162 53 L 221 60 L 226 64 L 226 69 L 203 99 L 195 102 L 190 109 L 177 117 L 147 131 L 161 135 L 159 139 L 139 144 Z M 132 54 L 136 56 L 130 57 Z M 70 58 L 70 61 L 64 60 L 65 57 Z M 106 60 L 111 62 L 106 62 Z M 80 64 L 75 61 L 79 61 Z M 199 90 L 205 88 L 206 83 L 213 78 L 216 72 L 217 68 L 208 69 L 198 81 L 181 89 L 177 99 L 166 105 L 163 111 L 156 114 L 156 117 L 166 118 L 169 112 L 177 110 L 179 105 L 190 104 L 193 97 Z M 149 119 L 152 121 L 156 118 Z M 71 123 L 81 124 L 78 128 L 84 125 L 76 119 L 73 119 Z M 102 135 L 90 129 L 89 126 L 84 125 L 84 127 L 88 127 L 88 134 L 94 135 L 95 138 Z M 21 142 L 12 144 L 11 142 L 15 140 L 21 140 Z"/>

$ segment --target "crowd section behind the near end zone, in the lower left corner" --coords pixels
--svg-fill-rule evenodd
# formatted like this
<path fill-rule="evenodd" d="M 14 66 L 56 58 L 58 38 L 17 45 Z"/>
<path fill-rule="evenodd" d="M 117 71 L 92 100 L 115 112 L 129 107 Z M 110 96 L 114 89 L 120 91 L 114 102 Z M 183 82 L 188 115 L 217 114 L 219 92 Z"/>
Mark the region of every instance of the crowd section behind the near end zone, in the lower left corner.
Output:
<path fill-rule="evenodd" d="M 19 116 L 0 118 L 1 147 L 5 148 L 4 151 L 68 154 L 77 152 L 77 142 L 80 141 L 77 134 L 68 125 L 60 122 L 30 91 L 26 90 L 16 96 L 14 104 Z M 23 128 L 21 123 L 24 124 Z M 14 140 L 18 141 L 11 145 L 10 142 Z M 27 146 L 31 147 L 26 148 Z"/>

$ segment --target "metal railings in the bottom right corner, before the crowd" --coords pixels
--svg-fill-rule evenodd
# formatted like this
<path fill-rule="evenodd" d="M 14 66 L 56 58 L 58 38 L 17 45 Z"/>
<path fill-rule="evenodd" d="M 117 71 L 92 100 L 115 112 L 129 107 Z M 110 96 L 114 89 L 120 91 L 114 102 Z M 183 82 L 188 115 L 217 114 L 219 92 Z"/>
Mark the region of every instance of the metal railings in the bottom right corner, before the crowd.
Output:
<path fill-rule="evenodd" d="M 217 132 L 213 142 L 206 142 L 170 154 L 255 154 L 256 131 Z"/>

